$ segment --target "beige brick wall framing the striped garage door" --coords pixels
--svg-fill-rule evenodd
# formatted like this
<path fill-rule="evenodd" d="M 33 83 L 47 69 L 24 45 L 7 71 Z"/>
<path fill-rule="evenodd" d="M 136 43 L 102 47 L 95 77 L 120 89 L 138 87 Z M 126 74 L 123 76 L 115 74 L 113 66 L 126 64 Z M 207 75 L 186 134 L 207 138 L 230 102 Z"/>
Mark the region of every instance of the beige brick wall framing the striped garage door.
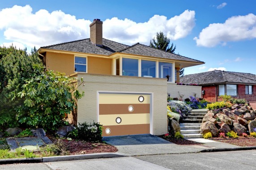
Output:
<path fill-rule="evenodd" d="M 78 73 L 83 77 L 85 96 L 78 100 L 77 122 L 97 122 L 97 91 L 153 93 L 153 134 L 167 133 L 166 79 Z"/>

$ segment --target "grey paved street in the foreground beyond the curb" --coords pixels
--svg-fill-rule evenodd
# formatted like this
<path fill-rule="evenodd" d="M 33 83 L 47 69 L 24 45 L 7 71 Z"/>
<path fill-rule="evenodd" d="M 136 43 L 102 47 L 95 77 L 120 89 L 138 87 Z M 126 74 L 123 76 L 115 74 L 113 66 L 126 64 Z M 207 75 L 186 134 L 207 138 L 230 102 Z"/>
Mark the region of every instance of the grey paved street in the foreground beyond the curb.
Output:
<path fill-rule="evenodd" d="M 256 150 L 0 165 L 0 170 L 256 170 Z"/>

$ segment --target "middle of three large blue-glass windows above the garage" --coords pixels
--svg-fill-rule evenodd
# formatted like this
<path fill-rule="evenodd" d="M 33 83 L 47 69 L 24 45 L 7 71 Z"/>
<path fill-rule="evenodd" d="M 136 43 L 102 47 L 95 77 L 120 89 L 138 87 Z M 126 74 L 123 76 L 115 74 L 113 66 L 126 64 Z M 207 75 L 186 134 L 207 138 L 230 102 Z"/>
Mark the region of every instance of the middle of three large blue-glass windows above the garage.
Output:
<path fill-rule="evenodd" d="M 141 60 L 141 77 L 156 77 L 156 62 Z"/>

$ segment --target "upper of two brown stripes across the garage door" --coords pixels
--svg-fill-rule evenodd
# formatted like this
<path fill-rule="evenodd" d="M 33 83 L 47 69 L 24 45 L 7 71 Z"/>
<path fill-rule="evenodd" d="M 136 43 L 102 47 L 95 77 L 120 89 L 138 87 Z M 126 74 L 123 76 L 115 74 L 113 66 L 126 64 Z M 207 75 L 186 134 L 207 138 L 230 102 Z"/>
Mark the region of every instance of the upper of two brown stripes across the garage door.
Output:
<path fill-rule="evenodd" d="M 129 112 L 128 107 L 133 106 Z M 150 113 L 150 104 L 99 104 L 99 115 Z"/>

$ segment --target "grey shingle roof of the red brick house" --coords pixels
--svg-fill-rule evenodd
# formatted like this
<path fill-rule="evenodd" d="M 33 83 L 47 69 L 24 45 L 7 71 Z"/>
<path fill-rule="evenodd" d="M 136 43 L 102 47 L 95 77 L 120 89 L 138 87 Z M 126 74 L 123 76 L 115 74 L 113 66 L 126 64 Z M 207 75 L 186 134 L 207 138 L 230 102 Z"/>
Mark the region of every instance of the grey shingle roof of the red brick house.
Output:
<path fill-rule="evenodd" d="M 214 83 L 252 83 L 256 84 L 256 75 L 231 71 L 213 70 L 192 75 L 184 75 L 181 83 L 195 83 L 199 85 Z"/>

